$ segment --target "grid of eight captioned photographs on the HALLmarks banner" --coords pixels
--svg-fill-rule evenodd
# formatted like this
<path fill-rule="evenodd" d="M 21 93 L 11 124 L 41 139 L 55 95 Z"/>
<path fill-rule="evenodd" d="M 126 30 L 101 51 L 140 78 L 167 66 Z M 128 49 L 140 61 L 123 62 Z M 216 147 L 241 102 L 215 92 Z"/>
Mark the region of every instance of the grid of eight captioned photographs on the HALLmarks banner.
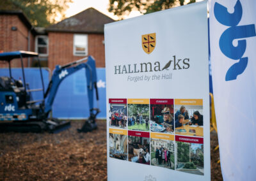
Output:
<path fill-rule="evenodd" d="M 109 157 L 204 175 L 202 99 L 109 99 Z"/>

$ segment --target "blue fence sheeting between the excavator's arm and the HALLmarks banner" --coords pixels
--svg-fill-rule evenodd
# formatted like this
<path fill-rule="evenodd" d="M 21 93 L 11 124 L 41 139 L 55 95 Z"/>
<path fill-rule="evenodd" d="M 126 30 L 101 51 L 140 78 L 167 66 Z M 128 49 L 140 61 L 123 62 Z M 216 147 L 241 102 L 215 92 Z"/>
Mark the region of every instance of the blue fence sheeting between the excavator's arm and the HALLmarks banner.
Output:
<path fill-rule="evenodd" d="M 106 77 L 105 68 L 97 68 L 97 87 L 99 91 L 100 113 L 97 118 L 106 118 Z M 58 118 L 87 118 L 88 108 L 87 85 L 85 70 L 81 69 L 68 76 L 61 82 L 52 107 L 52 117 Z M 97 101 L 94 96 L 94 106 Z"/>

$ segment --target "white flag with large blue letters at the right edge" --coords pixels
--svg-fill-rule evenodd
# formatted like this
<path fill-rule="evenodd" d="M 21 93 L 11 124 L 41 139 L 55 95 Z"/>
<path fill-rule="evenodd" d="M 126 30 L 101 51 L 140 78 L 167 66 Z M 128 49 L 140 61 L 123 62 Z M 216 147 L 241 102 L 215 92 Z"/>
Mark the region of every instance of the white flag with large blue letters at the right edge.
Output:
<path fill-rule="evenodd" d="M 256 1 L 210 1 L 212 82 L 224 180 L 256 179 Z"/>

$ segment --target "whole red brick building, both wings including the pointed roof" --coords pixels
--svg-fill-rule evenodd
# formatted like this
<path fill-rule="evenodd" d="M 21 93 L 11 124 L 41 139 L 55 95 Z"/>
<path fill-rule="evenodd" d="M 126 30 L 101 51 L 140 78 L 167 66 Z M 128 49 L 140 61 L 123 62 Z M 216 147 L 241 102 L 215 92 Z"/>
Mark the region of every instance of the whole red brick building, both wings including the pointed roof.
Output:
<path fill-rule="evenodd" d="M 42 66 L 51 70 L 87 55 L 95 58 L 97 67 L 105 67 L 104 24 L 110 22 L 114 20 L 88 8 L 46 29 L 34 28 L 21 11 L 0 10 L 0 51 L 38 52 Z M 36 61 L 25 66 L 37 66 Z"/>

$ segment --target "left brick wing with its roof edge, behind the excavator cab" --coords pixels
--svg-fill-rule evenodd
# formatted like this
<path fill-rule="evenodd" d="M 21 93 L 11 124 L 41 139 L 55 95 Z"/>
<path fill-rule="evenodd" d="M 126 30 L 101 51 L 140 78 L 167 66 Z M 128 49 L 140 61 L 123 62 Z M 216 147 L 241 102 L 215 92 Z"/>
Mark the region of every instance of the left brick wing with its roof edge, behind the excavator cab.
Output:
<path fill-rule="evenodd" d="M 35 36 L 35 29 L 22 11 L 0 10 L 0 52 L 35 51 Z M 24 59 L 24 66 L 29 62 L 30 59 Z M 0 67 L 8 67 L 0 63 Z M 20 61 L 12 61 L 12 66 L 20 67 Z"/>

